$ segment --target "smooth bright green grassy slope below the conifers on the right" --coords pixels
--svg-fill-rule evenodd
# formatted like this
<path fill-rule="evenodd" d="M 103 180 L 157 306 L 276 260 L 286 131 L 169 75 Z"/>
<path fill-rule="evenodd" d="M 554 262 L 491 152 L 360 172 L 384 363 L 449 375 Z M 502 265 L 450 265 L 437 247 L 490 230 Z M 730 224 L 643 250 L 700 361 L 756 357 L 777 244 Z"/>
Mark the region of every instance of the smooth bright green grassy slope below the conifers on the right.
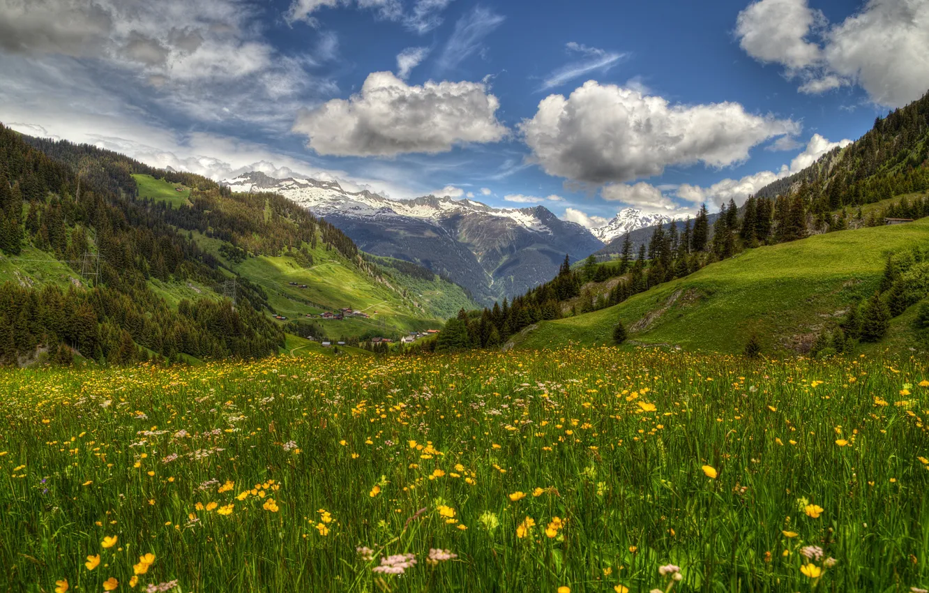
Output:
<path fill-rule="evenodd" d="M 929 219 L 922 219 L 760 247 L 616 307 L 540 323 L 515 342 L 520 348 L 604 344 L 622 320 L 632 329 L 630 339 L 645 344 L 739 352 L 757 332 L 766 350 L 783 349 L 793 336 L 816 332 L 824 315 L 869 296 L 888 253 L 927 241 Z M 648 327 L 635 329 L 636 322 L 665 308 L 678 292 L 676 302 Z M 911 311 L 895 320 L 895 328 L 902 329 L 907 314 Z"/>

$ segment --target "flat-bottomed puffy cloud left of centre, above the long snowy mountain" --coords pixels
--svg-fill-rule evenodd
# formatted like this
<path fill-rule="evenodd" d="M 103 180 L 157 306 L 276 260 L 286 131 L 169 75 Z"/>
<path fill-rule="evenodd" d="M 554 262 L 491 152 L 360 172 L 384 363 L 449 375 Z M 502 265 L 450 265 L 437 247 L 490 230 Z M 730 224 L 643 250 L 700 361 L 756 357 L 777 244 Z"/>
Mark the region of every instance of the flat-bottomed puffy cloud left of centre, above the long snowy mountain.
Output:
<path fill-rule="evenodd" d="M 294 132 L 319 154 L 396 156 L 449 152 L 464 143 L 496 142 L 506 128 L 500 102 L 481 83 L 429 81 L 409 86 L 391 72 L 369 74 L 360 93 L 302 110 Z"/>

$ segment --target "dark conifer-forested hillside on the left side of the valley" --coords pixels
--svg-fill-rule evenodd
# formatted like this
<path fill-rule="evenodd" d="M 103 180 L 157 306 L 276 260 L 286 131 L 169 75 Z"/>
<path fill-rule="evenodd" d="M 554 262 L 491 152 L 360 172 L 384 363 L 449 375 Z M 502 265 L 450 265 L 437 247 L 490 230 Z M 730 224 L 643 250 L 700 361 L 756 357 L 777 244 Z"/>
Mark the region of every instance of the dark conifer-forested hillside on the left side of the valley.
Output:
<path fill-rule="evenodd" d="M 177 186 L 180 197 L 141 197 L 140 180 Z M 234 194 L 207 178 L 2 126 L 0 213 L 7 364 L 276 353 L 289 328 L 271 314 L 309 299 L 281 297 L 287 277 L 274 265 L 311 268 L 314 254 L 350 270 L 338 280 L 354 287 L 350 295 L 371 292 L 411 318 L 448 310 L 404 296 L 406 276 L 365 261 L 344 233 L 279 195 Z M 455 304 L 470 302 L 458 287 L 451 292 L 461 295 Z"/>

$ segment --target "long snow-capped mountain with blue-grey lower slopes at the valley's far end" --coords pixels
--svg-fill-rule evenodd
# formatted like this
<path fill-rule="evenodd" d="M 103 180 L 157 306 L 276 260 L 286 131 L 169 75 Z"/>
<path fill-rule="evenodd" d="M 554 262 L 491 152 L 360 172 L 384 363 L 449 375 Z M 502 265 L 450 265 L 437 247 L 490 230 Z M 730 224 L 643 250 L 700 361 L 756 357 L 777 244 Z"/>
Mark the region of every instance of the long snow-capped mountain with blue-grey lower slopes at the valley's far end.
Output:
<path fill-rule="evenodd" d="M 275 179 L 259 172 L 223 183 L 232 191 L 280 193 L 325 217 L 363 251 L 418 263 L 484 302 L 522 294 L 555 277 L 565 254 L 587 257 L 603 246 L 581 225 L 543 206 L 493 208 L 434 195 L 389 200 L 370 191 L 345 191 L 335 181 Z"/>

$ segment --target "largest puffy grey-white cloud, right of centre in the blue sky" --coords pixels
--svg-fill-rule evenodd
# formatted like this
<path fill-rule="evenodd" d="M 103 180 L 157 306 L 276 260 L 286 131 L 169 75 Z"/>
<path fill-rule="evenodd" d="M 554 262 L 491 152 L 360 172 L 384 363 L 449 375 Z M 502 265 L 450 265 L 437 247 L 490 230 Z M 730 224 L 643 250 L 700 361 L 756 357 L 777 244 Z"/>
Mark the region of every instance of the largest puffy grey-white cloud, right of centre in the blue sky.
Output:
<path fill-rule="evenodd" d="M 739 103 L 672 105 L 588 81 L 567 99 L 543 99 L 519 129 L 549 175 L 602 184 L 661 175 L 669 165 L 739 163 L 752 147 L 795 134 L 800 125 L 746 112 Z"/>

